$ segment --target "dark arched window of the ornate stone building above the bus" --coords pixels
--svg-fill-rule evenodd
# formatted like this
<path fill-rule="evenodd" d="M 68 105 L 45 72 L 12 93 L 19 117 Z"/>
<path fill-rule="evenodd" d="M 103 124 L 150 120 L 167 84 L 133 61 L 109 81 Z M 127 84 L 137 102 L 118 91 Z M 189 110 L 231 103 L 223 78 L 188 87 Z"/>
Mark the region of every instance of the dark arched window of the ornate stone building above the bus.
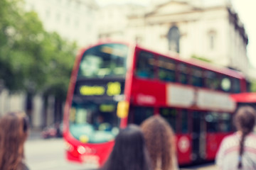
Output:
<path fill-rule="evenodd" d="M 170 28 L 168 33 L 168 41 L 169 41 L 169 50 L 174 52 L 179 52 L 179 40 L 181 35 L 176 26 Z"/>

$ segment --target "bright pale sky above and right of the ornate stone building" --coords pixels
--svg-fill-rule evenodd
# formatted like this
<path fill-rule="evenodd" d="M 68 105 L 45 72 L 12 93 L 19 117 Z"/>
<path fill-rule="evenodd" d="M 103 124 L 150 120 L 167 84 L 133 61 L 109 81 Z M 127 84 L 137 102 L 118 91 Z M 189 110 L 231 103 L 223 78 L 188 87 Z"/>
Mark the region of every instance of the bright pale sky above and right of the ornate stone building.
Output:
<path fill-rule="evenodd" d="M 149 4 L 150 0 L 97 0 L 100 5 L 107 4 L 122 4 L 126 2 L 134 2 L 139 4 Z M 191 0 L 193 1 L 193 0 Z M 214 0 L 212 0 L 214 1 Z M 248 45 L 247 45 L 247 57 L 249 58 L 250 65 L 256 68 L 256 0 L 230 0 L 233 2 L 235 11 L 240 17 L 240 21 L 245 26 L 245 31 L 248 35 Z"/>

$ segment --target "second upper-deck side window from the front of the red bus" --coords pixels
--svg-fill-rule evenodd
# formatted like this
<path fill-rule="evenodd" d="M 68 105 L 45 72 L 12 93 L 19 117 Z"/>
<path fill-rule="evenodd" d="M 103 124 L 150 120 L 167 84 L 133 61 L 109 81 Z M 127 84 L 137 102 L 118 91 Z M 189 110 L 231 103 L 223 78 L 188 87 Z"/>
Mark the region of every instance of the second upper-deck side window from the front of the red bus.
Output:
<path fill-rule="evenodd" d="M 158 76 L 160 80 L 164 81 L 176 81 L 175 79 L 175 69 L 176 64 L 174 60 L 166 59 L 164 57 L 159 57 L 158 60 Z"/>

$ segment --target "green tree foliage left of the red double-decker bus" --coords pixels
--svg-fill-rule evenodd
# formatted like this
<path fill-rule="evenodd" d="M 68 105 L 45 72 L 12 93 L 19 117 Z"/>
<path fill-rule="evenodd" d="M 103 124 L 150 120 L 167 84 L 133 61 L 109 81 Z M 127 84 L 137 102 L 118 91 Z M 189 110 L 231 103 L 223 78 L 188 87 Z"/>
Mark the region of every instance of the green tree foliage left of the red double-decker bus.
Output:
<path fill-rule="evenodd" d="M 22 6 L 19 0 L 0 1 L 0 79 L 11 92 L 61 98 L 68 89 L 75 42 L 48 33 L 37 13 Z"/>

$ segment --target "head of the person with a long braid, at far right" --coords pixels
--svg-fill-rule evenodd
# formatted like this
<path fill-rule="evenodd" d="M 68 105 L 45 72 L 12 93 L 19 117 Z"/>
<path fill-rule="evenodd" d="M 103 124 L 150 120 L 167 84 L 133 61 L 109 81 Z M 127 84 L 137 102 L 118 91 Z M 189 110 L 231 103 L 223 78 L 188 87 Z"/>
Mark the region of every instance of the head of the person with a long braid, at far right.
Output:
<path fill-rule="evenodd" d="M 241 106 L 235 113 L 234 124 L 237 130 L 248 134 L 255 127 L 256 111 L 251 106 Z"/>

